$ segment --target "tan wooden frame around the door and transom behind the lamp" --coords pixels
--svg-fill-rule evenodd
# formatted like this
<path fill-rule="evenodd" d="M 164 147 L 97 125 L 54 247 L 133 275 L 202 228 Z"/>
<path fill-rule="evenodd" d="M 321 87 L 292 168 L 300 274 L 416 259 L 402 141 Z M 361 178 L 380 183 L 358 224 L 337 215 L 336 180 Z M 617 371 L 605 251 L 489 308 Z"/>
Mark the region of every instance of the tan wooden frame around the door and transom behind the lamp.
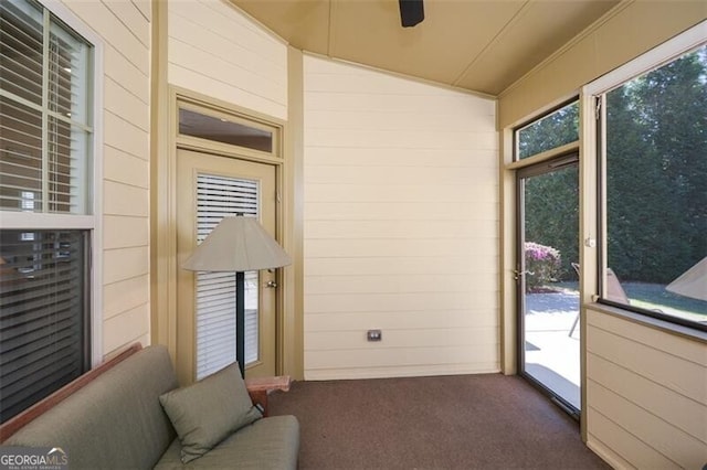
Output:
<path fill-rule="evenodd" d="M 233 104 L 170 86 L 167 103 L 161 103 L 162 111 L 168 119 L 161 119 L 159 129 L 154 136 L 155 157 L 151 161 L 151 236 L 150 243 L 150 303 L 151 303 L 151 343 L 167 345 L 172 361 L 179 354 L 177 335 L 177 151 L 193 150 L 220 157 L 241 159 L 275 167 L 275 188 L 277 201 L 275 207 L 275 239 L 287 253 L 293 254 L 293 265 L 277 270 L 276 282 L 281 288 L 276 293 L 276 338 L 275 338 L 275 373 L 289 374 L 297 377 L 298 319 L 295 311 L 295 286 L 292 281 L 297 266 L 299 249 L 295 239 L 293 223 L 288 214 L 292 207 L 293 162 L 285 158 L 285 122 L 263 114 L 245 109 Z M 267 154 L 226 143 L 207 141 L 204 139 L 179 135 L 179 108 L 186 105 L 204 114 L 233 116 L 241 120 L 267 127 L 274 132 L 273 152 Z M 276 137 L 275 137 L 276 136 Z M 300 314 L 300 313 L 299 313 Z M 288 355 L 295 356 L 285 360 Z M 294 367 L 293 367 L 294 366 Z M 193 377 L 178 377 L 181 385 L 187 385 Z"/>

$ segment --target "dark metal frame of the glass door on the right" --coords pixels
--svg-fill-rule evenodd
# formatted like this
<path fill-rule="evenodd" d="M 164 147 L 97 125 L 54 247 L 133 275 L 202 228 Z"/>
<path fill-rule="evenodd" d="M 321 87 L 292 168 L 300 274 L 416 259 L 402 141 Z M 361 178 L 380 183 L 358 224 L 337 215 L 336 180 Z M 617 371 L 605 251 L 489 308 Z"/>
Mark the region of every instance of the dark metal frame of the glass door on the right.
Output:
<path fill-rule="evenodd" d="M 530 159 L 528 159 L 530 160 Z M 516 364 L 517 364 L 517 373 L 518 375 L 525 377 L 526 380 L 528 380 L 534 386 L 536 386 L 537 388 L 539 388 L 545 395 L 547 395 L 550 399 L 552 399 L 558 406 L 560 406 L 564 412 L 567 412 L 571 417 L 573 417 L 577 420 L 580 420 L 580 414 L 581 410 L 584 408 L 584 384 L 583 381 L 581 381 L 581 408 L 579 410 L 576 410 L 576 408 L 569 403 L 567 402 L 563 397 L 561 397 L 560 395 L 558 395 L 557 393 L 555 393 L 552 389 L 550 389 L 548 386 L 546 386 L 544 383 L 541 383 L 540 381 L 538 381 L 537 378 L 535 378 L 534 376 L 531 376 L 530 374 L 528 374 L 525 370 L 525 266 L 524 266 L 524 245 L 523 245 L 523 241 L 525 238 L 525 212 L 524 212 L 524 207 L 525 207 L 525 191 L 523 188 L 523 180 L 527 179 L 527 178 L 532 178 L 532 177 L 540 177 L 544 174 L 549 174 L 553 171 L 558 171 L 561 170 L 563 168 L 568 168 L 570 165 L 576 165 L 577 167 L 577 184 L 578 186 L 581 184 L 581 178 L 580 178 L 580 158 L 579 158 L 579 150 L 578 149 L 572 149 L 570 151 L 566 151 L 566 150 L 560 150 L 557 152 L 553 152 L 552 156 L 550 158 L 546 158 L 541 161 L 535 161 L 531 162 L 530 164 L 526 164 L 521 168 L 518 168 L 515 171 L 515 192 L 516 192 L 516 199 L 515 199 L 515 217 L 516 217 L 516 229 L 515 229 L 515 273 L 516 276 L 518 277 L 517 281 L 515 282 L 515 289 L 516 289 L 516 293 L 515 293 L 515 298 L 516 298 L 516 303 L 515 303 L 515 308 L 516 308 Z M 581 201 L 578 200 L 578 205 L 581 206 Z M 579 207 L 578 206 L 578 211 Z M 579 225 L 577 226 L 577 232 L 578 234 L 581 233 L 580 232 L 580 225 L 581 225 L 581 221 L 579 221 Z M 580 239 L 578 237 L 577 239 L 578 243 L 578 248 Z M 581 249 L 578 249 L 578 252 L 581 252 Z M 520 274 L 517 274 L 520 273 Z M 581 284 L 581 280 L 580 280 Z M 583 318 L 582 314 L 582 309 L 581 309 L 581 301 L 580 301 L 580 306 L 579 306 L 579 314 L 580 318 Z M 581 331 L 585 331 L 585 330 L 581 330 Z M 583 343 L 583 339 L 580 339 L 580 351 L 582 349 L 582 343 Z M 580 376 L 583 376 L 582 374 L 582 368 L 583 368 L 583 361 L 580 357 L 580 364 L 578 364 L 577 366 L 580 368 Z"/>

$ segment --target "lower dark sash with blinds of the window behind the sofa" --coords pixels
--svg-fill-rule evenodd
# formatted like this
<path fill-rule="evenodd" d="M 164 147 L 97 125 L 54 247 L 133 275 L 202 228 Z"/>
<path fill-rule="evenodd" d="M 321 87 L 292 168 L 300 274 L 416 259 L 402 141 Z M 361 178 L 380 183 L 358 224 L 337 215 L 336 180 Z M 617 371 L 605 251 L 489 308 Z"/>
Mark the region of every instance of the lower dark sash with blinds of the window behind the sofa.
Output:
<path fill-rule="evenodd" d="M 0 232 L 0 418 L 81 375 L 86 231 Z"/>

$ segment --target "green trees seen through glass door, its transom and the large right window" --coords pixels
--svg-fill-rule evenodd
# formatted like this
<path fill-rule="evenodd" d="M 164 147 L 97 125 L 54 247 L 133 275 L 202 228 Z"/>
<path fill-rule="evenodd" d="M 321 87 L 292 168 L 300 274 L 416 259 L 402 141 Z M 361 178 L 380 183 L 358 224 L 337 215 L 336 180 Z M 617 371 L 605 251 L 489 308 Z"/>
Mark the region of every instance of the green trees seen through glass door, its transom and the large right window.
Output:
<path fill-rule="evenodd" d="M 519 131 L 525 158 L 578 136 L 576 106 Z M 707 46 L 606 94 L 608 265 L 622 280 L 675 279 L 707 255 Z M 577 168 L 526 180 L 526 241 L 578 258 Z"/>

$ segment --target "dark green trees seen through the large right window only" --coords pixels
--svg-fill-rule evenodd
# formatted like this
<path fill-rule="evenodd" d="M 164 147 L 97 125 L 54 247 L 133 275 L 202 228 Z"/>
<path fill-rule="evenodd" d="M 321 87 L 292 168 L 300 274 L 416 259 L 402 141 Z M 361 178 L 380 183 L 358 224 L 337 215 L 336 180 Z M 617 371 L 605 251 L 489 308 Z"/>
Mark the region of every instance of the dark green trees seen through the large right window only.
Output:
<path fill-rule="evenodd" d="M 707 254 L 707 47 L 606 96 L 608 265 L 667 284 Z"/>

